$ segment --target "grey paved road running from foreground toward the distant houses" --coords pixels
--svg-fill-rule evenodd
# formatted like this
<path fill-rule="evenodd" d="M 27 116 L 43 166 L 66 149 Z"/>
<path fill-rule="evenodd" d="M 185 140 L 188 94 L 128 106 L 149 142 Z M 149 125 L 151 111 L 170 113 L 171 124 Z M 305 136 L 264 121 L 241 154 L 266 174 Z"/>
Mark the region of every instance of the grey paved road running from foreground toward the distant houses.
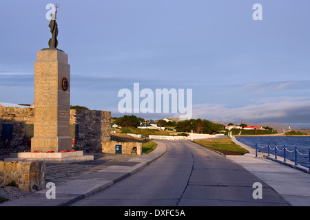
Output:
<path fill-rule="evenodd" d="M 163 141 L 165 155 L 110 188 L 72 206 L 288 206 L 261 179 L 214 151 Z M 255 182 L 262 199 L 254 199 Z"/>

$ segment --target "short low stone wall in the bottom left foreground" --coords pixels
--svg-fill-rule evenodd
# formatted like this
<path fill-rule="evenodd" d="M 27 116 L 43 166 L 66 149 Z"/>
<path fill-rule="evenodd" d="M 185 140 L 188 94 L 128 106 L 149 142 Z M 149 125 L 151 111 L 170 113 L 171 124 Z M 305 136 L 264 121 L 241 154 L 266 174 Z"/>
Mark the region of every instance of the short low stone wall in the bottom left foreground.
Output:
<path fill-rule="evenodd" d="M 16 186 L 27 192 L 34 192 L 45 188 L 45 163 L 34 162 L 1 162 L 0 182 Z"/>

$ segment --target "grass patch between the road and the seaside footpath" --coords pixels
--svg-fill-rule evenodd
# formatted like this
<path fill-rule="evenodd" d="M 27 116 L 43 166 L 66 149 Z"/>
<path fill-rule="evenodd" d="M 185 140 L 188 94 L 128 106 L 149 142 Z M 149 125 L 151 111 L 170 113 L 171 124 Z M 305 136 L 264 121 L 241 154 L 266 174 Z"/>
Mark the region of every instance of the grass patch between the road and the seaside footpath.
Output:
<path fill-rule="evenodd" d="M 234 143 L 230 138 L 194 140 L 194 142 L 225 155 L 244 155 L 245 153 L 249 153 L 247 149 Z"/>

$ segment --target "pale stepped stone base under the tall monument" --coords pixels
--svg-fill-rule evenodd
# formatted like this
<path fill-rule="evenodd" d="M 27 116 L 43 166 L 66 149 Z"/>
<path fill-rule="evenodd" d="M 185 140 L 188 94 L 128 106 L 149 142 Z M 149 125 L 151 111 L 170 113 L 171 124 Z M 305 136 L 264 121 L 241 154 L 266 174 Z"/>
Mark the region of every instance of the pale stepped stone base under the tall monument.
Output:
<path fill-rule="evenodd" d="M 71 164 L 94 160 L 93 155 L 83 155 L 83 151 L 57 152 L 57 153 L 11 153 L 5 161 L 34 161 L 43 160 L 45 164 Z"/>

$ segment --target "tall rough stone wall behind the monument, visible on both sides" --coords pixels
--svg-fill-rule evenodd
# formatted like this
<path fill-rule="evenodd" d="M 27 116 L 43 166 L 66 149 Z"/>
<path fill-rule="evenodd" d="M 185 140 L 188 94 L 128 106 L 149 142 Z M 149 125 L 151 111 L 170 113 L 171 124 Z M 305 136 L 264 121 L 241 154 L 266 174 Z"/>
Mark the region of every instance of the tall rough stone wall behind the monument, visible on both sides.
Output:
<path fill-rule="evenodd" d="M 101 142 L 110 142 L 111 112 L 70 110 L 70 133 L 76 139 L 74 148 L 85 152 L 101 152 Z M 33 137 L 34 109 L 0 107 L 0 155 L 29 151 Z M 10 145 L 4 144 L 2 125 L 12 124 Z"/>

